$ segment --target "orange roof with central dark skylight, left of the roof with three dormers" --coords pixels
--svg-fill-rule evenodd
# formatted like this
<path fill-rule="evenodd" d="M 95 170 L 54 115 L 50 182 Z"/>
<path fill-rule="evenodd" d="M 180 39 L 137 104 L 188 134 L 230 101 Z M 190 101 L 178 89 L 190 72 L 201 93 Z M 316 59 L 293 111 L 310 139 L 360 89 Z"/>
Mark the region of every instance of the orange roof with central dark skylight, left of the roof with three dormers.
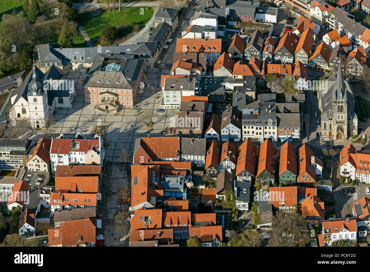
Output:
<path fill-rule="evenodd" d="M 146 225 L 148 225 L 147 229 L 159 229 L 161 228 L 161 222 L 161 209 L 139 209 L 135 211 L 135 214 L 130 219 L 132 231 L 146 229 Z"/>

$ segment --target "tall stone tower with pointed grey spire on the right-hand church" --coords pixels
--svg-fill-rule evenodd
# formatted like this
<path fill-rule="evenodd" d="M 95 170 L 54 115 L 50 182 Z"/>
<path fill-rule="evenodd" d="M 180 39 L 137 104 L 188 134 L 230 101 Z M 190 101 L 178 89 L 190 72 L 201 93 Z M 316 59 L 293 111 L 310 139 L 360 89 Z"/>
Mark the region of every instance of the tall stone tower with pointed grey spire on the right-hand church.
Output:
<path fill-rule="evenodd" d="M 336 80 L 333 85 L 333 140 L 347 140 L 347 90 L 339 61 Z"/>

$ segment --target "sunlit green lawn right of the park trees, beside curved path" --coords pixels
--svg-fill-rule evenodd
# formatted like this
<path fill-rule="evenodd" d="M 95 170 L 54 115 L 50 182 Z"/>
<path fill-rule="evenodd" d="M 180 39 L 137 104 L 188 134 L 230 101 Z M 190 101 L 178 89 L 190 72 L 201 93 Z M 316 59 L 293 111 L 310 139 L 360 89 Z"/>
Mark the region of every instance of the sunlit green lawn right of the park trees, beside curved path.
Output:
<path fill-rule="evenodd" d="M 144 9 L 143 15 L 140 15 L 141 8 Z M 99 38 L 101 31 L 109 25 L 120 28 L 125 25 L 128 26 L 135 21 L 144 26 L 152 16 L 153 9 L 151 7 L 148 7 L 148 10 L 146 10 L 146 7 L 128 7 L 126 9 L 126 15 L 123 10 L 118 11 L 118 9 L 115 11 L 102 10 L 102 13 L 97 16 L 86 13 L 86 16 L 80 20 L 80 23 L 90 40 L 94 41 Z M 116 23 L 118 23 L 118 25 L 116 25 Z"/>

